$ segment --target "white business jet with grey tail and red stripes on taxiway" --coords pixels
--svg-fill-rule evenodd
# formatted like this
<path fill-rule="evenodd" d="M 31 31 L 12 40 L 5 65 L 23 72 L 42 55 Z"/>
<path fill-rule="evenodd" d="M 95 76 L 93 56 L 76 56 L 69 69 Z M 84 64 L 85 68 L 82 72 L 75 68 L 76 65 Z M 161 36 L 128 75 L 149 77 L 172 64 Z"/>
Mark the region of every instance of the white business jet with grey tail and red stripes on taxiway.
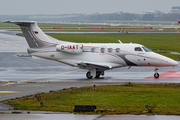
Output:
<path fill-rule="evenodd" d="M 73 43 L 50 39 L 37 23 L 13 22 L 19 25 L 29 44 L 28 53 L 35 57 L 55 60 L 80 69 L 89 70 L 88 79 L 104 75 L 105 70 L 129 66 L 153 66 L 158 78 L 159 67 L 174 67 L 178 62 L 152 52 L 140 44 Z"/>

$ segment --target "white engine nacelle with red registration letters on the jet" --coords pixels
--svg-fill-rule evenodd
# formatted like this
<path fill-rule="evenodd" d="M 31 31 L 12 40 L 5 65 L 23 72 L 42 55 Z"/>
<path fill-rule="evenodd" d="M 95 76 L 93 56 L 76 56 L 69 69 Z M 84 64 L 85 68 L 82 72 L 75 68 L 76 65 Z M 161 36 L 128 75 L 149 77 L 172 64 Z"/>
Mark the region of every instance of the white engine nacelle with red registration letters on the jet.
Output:
<path fill-rule="evenodd" d="M 82 44 L 61 44 L 56 46 L 57 51 L 80 54 L 83 51 Z"/>

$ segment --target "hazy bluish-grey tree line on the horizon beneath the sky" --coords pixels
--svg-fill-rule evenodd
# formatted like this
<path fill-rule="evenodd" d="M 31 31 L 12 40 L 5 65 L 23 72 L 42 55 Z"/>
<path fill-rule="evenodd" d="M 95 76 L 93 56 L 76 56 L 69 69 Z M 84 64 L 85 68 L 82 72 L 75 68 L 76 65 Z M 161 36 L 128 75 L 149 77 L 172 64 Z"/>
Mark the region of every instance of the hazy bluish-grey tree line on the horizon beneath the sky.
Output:
<path fill-rule="evenodd" d="M 62 17 L 63 16 L 63 17 Z M 124 20 L 124 21 L 177 21 L 180 20 L 180 14 L 134 14 L 134 13 L 109 13 L 109 14 L 59 14 L 59 15 L 0 15 L 0 20 Z"/>

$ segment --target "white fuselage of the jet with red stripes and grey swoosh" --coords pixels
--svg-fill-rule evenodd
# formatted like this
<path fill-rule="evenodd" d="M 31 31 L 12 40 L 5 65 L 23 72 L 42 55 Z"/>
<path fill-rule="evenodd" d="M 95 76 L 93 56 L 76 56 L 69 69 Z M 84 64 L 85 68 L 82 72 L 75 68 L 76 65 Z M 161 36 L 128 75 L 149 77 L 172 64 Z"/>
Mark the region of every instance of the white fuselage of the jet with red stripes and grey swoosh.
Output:
<path fill-rule="evenodd" d="M 68 44 L 69 46 L 71 44 Z M 107 65 L 111 68 L 123 66 L 155 66 L 173 67 L 178 63 L 170 58 L 159 55 L 152 51 L 145 51 L 140 44 L 102 44 L 83 43 L 81 53 L 74 53 L 72 48 L 63 48 L 72 52 L 57 50 L 56 47 L 43 49 L 42 52 L 34 52 L 32 55 L 53 59 L 71 66 L 78 66 L 78 63 L 88 62 L 99 65 Z M 141 50 L 138 50 L 140 48 Z M 76 48 L 75 48 L 76 49 Z M 80 47 L 79 47 L 80 49 Z"/>

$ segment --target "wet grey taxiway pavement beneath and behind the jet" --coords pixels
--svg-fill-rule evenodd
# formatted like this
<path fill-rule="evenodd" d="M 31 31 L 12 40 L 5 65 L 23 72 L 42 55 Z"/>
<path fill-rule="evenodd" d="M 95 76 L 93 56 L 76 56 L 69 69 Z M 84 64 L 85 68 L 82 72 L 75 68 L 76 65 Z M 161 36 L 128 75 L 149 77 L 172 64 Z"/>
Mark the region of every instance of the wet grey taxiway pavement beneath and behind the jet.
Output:
<path fill-rule="evenodd" d="M 180 83 L 179 66 L 160 69 L 154 79 L 153 67 L 118 68 L 99 79 L 87 79 L 81 70 L 51 60 L 28 56 L 24 37 L 0 33 L 0 100 L 69 87 L 133 83 Z M 176 77 L 173 77 L 171 74 Z M 116 119 L 116 118 L 114 118 Z"/>

